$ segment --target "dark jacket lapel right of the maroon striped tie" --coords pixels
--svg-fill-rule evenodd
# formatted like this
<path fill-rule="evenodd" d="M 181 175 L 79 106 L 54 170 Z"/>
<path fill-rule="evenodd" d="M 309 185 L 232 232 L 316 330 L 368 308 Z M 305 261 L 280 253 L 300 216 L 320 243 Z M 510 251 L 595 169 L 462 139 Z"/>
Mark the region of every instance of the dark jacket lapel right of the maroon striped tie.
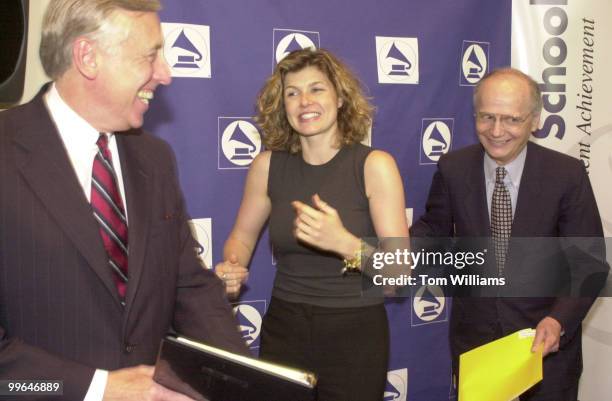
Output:
<path fill-rule="evenodd" d="M 138 131 L 117 134 L 128 208 L 129 281 L 126 295 L 128 307 L 133 304 L 143 274 L 145 250 L 153 215 L 151 211 L 151 199 L 154 196 L 151 180 L 152 169 L 143 149 L 140 149 L 130 138 L 138 134 Z"/>

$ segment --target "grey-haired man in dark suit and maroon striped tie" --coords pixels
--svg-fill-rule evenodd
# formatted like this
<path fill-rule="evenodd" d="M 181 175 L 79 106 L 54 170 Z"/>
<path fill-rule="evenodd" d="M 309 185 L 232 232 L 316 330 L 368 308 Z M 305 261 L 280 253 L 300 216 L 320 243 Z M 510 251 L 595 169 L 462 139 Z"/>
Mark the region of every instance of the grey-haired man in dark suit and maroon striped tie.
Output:
<path fill-rule="evenodd" d="M 0 113 L 0 379 L 62 380 L 69 400 L 184 399 L 137 366 L 169 330 L 248 352 L 197 261 L 172 152 L 140 130 L 171 80 L 159 7 L 51 0 L 54 82 Z"/>

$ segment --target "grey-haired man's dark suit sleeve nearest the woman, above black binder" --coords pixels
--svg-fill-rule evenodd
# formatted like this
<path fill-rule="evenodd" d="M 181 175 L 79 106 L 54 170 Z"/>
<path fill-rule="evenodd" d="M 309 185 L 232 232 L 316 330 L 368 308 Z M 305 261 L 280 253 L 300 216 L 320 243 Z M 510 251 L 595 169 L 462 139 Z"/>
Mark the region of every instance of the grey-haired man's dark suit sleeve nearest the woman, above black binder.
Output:
<path fill-rule="evenodd" d="M 169 148 L 166 154 L 171 155 Z M 196 242 L 188 225 L 184 198 L 172 156 L 171 185 L 176 195 L 179 221 L 179 263 L 173 328 L 180 335 L 204 341 L 228 351 L 249 355 L 238 324 L 227 302 L 221 280 L 197 259 Z"/>

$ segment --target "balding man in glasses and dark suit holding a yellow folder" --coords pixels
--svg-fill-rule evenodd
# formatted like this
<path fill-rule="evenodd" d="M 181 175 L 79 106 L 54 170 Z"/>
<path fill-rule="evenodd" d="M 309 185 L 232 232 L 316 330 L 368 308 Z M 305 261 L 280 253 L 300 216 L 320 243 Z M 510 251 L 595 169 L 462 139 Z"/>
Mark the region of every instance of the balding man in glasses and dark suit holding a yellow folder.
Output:
<path fill-rule="evenodd" d="M 492 237 L 500 274 L 525 258 L 513 253 L 512 239 L 603 235 L 583 165 L 529 142 L 542 109 L 536 82 L 515 69 L 494 71 L 475 88 L 474 109 L 480 144 L 440 159 L 426 213 L 412 226 L 411 235 Z M 550 279 L 564 269 L 580 269 L 574 261 L 554 260 L 560 264 L 546 271 Z M 542 275 L 537 265 L 530 268 L 523 274 L 531 278 L 525 283 L 533 284 Z M 450 323 L 454 368 L 461 353 L 535 327 L 533 349 L 543 346 L 544 380 L 521 401 L 576 400 L 582 370 L 581 322 L 596 290 L 587 295 L 455 298 Z"/>

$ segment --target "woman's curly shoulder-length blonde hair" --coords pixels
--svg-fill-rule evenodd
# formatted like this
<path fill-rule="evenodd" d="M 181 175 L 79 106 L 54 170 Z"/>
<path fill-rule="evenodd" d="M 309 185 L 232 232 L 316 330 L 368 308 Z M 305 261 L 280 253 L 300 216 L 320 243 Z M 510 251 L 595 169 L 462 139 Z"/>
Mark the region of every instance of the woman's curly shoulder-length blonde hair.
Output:
<path fill-rule="evenodd" d="M 361 142 L 372 124 L 374 107 L 364 95 L 361 83 L 353 72 L 325 49 L 303 49 L 282 59 L 257 97 L 257 116 L 268 150 L 301 150 L 299 135 L 289 124 L 283 101 L 285 76 L 306 67 L 317 67 L 334 85 L 342 106 L 338 109 L 339 146 Z"/>

